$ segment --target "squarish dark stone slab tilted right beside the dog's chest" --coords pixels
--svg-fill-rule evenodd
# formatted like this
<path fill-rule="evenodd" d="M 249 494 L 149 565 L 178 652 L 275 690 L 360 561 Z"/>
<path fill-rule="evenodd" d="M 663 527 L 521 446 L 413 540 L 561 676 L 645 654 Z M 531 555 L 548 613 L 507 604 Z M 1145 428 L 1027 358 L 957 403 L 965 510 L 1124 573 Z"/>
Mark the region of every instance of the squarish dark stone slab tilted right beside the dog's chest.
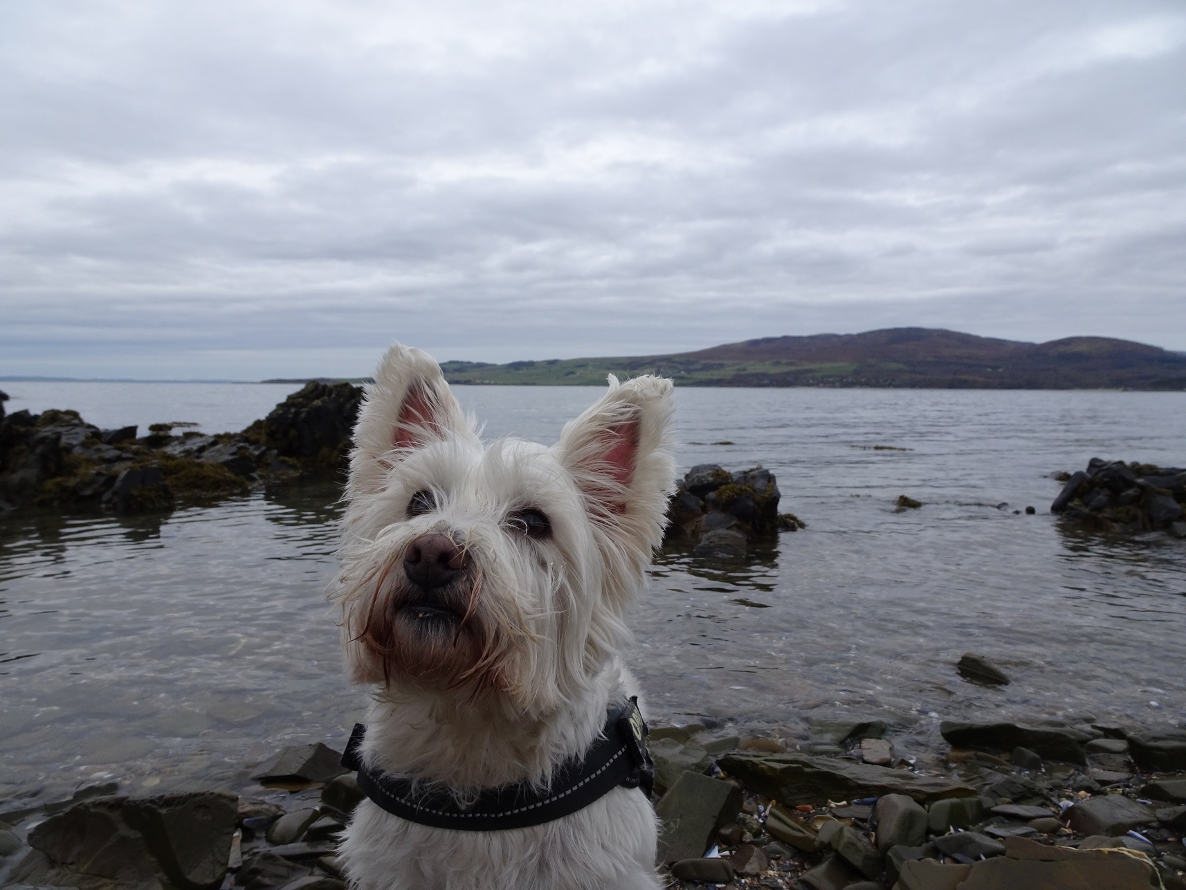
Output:
<path fill-rule="evenodd" d="M 699 859 L 740 812 L 741 792 L 732 782 L 684 773 L 655 807 L 662 821 L 658 860 Z"/>

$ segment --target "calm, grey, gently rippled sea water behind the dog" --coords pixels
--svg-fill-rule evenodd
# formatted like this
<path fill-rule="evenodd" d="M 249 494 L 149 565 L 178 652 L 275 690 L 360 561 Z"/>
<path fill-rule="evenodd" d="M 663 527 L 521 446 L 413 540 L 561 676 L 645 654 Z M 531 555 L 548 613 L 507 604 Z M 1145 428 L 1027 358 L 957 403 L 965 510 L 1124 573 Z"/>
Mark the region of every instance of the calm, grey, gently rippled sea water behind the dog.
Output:
<path fill-rule="evenodd" d="M 549 441 L 595 392 L 460 396 L 489 437 Z M 910 752 L 937 743 L 939 718 L 1186 713 L 1186 542 L 1045 513 L 1051 473 L 1092 454 L 1182 464 L 1181 395 L 678 398 L 682 441 L 733 443 L 688 445 L 684 466 L 761 463 L 809 525 L 740 565 L 657 557 L 630 654 L 653 716 L 803 733 L 875 713 Z M 900 494 L 923 508 L 895 511 Z M 337 497 L 320 484 L 153 517 L 0 522 L 0 797 L 97 777 L 234 786 L 278 745 L 340 744 L 363 699 L 342 679 L 324 596 Z M 1026 504 L 1039 515 L 1014 513 Z M 964 651 L 1013 682 L 963 682 Z"/>

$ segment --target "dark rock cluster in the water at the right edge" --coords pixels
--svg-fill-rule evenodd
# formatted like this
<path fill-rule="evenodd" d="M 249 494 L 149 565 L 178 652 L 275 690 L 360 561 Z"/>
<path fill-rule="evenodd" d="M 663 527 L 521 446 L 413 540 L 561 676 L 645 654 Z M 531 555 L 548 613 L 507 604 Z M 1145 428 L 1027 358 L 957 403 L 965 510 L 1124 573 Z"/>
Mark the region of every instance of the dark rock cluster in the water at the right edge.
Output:
<path fill-rule="evenodd" d="M 1066 522 L 1101 532 L 1167 529 L 1186 538 L 1186 470 L 1093 457 L 1064 481 L 1050 511 Z"/>

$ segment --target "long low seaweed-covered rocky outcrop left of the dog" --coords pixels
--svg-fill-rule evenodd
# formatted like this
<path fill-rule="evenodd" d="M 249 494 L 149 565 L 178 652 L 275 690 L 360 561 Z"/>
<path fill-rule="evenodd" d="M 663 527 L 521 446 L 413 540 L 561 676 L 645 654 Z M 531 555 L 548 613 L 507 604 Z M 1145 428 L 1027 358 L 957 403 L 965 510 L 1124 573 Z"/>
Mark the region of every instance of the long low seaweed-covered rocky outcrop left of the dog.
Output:
<path fill-rule="evenodd" d="M 18 507 L 172 509 L 343 466 L 362 389 L 310 383 L 241 433 L 189 424 L 100 430 L 74 411 L 0 412 L 0 513 Z"/>

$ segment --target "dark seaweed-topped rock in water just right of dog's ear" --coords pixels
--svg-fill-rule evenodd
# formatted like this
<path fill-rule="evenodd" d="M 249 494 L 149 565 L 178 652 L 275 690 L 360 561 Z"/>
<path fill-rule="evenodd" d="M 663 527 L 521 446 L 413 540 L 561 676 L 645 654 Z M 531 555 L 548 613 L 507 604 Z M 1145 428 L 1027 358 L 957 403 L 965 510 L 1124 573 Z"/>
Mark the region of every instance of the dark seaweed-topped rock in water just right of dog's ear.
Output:
<path fill-rule="evenodd" d="M 804 528 L 792 514 L 778 513 L 780 496 L 774 473 L 761 466 L 731 472 L 697 464 L 668 506 L 664 541 L 691 543 L 704 559 L 742 559 L 752 543 Z"/>

